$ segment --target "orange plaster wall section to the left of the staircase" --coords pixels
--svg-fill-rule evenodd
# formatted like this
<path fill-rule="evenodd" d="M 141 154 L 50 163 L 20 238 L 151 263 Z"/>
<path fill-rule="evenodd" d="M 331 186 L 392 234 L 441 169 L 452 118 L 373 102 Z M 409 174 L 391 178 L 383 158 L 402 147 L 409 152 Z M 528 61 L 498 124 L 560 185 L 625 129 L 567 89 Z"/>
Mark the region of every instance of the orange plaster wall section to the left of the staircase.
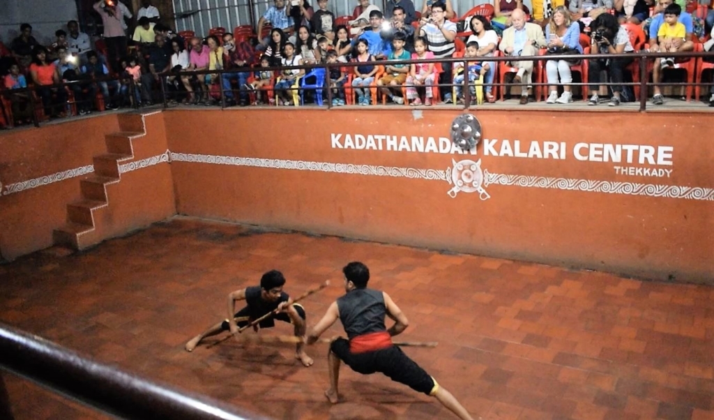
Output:
<path fill-rule="evenodd" d="M 95 116 L 0 135 L 3 185 L 92 164 L 106 153 L 104 134 L 119 131 L 116 115 Z M 52 245 L 52 231 L 64 224 L 66 205 L 80 198 L 79 179 L 65 179 L 0 196 L 0 254 L 5 259 Z"/>

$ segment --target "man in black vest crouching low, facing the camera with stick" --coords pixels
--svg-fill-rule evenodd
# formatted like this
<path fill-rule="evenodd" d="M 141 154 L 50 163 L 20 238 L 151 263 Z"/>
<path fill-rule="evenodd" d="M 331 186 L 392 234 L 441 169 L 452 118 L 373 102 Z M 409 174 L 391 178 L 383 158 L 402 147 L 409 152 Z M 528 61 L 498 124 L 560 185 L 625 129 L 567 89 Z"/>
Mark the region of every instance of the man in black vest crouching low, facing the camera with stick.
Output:
<path fill-rule="evenodd" d="M 298 343 L 295 351 L 295 357 L 303 365 L 311 366 L 313 359 L 303 350 L 302 342 L 306 331 L 305 309 L 300 304 L 293 304 L 290 296 L 283 291 L 284 285 L 285 277 L 283 274 L 280 271 L 271 270 L 263 274 L 260 286 L 246 287 L 246 289 L 236 290 L 228 294 L 228 318 L 193 337 L 186 343 L 186 351 L 193 351 L 198 346 L 198 343 L 206 337 L 221 334 L 223 331 L 231 331 L 231 334 L 236 334 L 239 327 L 249 324 L 249 321 L 236 322 L 236 318 L 248 316 L 251 320 L 258 319 L 278 309 L 280 311 L 278 314 L 264 319 L 254 328 L 256 331 L 258 331 L 258 326 L 271 328 L 275 326 L 276 319 L 293 324 L 295 326 L 295 335 L 301 338 L 301 342 Z M 233 315 L 233 312 L 236 311 L 236 301 L 243 299 L 246 301 L 246 307 Z"/>

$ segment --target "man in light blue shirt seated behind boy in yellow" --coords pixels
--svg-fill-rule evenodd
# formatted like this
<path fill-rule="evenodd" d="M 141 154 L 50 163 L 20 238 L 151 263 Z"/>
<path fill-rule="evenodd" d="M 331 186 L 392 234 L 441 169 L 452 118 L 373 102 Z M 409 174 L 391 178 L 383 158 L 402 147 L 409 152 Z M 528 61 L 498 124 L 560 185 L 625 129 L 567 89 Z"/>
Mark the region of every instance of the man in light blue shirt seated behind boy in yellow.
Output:
<path fill-rule="evenodd" d="M 658 14 L 652 19 L 650 23 L 650 51 L 670 51 L 670 52 L 683 52 L 683 51 L 693 51 L 694 43 L 692 39 L 692 16 L 686 12 L 683 12 L 678 4 L 673 4 L 673 0 L 659 0 L 658 4 L 663 13 Z M 665 49 L 660 46 L 660 39 L 658 34 L 660 29 L 665 33 L 668 29 L 668 22 L 666 21 L 666 16 L 670 15 L 670 21 L 674 20 L 675 23 L 680 24 L 679 30 L 681 32 L 682 26 L 684 26 L 684 36 L 675 37 L 668 42 L 669 49 Z M 679 13 L 677 13 L 679 12 Z M 678 15 L 678 16 L 677 16 Z M 681 35 L 681 34 L 680 34 Z M 674 61 L 667 61 L 666 59 L 655 59 L 655 65 L 652 69 L 652 80 L 655 84 L 662 82 L 663 70 L 674 65 Z M 662 96 L 662 91 L 660 86 L 653 86 L 654 95 L 652 97 L 652 103 L 655 105 L 664 104 L 664 96 Z"/>

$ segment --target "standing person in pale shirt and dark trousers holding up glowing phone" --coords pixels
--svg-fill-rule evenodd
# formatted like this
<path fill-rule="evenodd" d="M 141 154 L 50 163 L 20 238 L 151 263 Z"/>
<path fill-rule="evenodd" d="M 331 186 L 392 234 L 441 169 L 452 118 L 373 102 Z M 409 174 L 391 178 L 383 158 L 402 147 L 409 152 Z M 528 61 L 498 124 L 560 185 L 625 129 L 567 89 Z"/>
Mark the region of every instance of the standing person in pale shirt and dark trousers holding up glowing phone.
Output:
<path fill-rule="evenodd" d="M 107 60 L 112 69 L 121 69 L 121 58 L 126 54 L 126 21 L 131 19 L 129 9 L 119 0 L 99 0 L 94 10 L 104 24 Z"/>

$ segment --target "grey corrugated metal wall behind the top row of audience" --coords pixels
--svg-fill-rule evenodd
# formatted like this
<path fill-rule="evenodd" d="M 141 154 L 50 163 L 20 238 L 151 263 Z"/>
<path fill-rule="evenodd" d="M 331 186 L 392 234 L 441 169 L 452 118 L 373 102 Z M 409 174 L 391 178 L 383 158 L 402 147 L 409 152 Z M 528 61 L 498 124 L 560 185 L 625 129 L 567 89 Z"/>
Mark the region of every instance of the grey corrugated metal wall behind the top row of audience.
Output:
<path fill-rule="evenodd" d="M 317 8 L 316 0 L 309 0 L 313 8 Z M 419 11 L 423 5 L 423 0 L 413 0 L 416 9 Z M 372 0 L 373 4 L 383 7 L 382 0 Z M 473 6 L 483 3 L 493 3 L 488 0 L 453 0 L 453 8 L 458 16 L 463 15 Z M 531 2 L 524 2 L 531 6 Z M 258 19 L 273 4 L 273 0 L 254 0 L 253 16 L 258 23 Z M 328 9 L 335 16 L 352 14 L 352 10 L 358 4 L 357 0 L 329 0 Z M 191 30 L 196 34 L 208 34 L 208 29 L 216 26 L 223 26 L 226 29 L 233 29 L 236 26 L 251 24 L 250 6 L 248 0 L 174 0 L 174 11 L 176 12 L 176 29 L 178 31 Z M 196 11 L 188 17 L 187 12 Z"/>

